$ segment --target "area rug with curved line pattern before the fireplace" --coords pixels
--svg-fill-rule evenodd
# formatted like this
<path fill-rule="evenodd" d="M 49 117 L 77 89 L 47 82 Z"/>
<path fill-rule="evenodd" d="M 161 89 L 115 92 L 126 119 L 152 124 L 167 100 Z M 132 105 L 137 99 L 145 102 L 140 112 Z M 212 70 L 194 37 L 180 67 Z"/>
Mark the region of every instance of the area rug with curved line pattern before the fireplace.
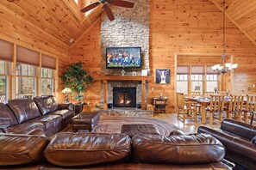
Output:
<path fill-rule="evenodd" d="M 92 132 L 120 133 L 122 124 L 153 124 L 163 136 L 168 136 L 171 131 L 179 130 L 177 126 L 155 118 L 102 116 Z"/>

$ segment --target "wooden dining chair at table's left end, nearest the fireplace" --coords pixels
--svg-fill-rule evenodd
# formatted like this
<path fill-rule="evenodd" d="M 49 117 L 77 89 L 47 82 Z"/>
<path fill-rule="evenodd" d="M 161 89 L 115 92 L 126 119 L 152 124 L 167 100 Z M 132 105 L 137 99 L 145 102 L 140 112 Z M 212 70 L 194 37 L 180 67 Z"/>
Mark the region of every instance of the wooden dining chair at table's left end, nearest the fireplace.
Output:
<path fill-rule="evenodd" d="M 178 105 L 178 118 L 182 118 L 185 123 L 186 118 L 193 118 L 195 123 L 197 122 L 197 111 L 195 101 L 184 101 L 184 94 L 177 93 L 177 105 Z M 182 112 L 180 112 L 182 111 Z"/>

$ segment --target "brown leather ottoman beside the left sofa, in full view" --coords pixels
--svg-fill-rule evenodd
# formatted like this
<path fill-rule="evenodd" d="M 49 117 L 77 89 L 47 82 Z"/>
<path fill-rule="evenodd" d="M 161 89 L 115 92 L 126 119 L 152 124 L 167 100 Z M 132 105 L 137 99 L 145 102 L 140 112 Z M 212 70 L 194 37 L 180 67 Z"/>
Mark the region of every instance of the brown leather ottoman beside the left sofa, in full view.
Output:
<path fill-rule="evenodd" d="M 91 131 L 99 122 L 100 112 L 81 112 L 72 118 L 73 131 Z"/>

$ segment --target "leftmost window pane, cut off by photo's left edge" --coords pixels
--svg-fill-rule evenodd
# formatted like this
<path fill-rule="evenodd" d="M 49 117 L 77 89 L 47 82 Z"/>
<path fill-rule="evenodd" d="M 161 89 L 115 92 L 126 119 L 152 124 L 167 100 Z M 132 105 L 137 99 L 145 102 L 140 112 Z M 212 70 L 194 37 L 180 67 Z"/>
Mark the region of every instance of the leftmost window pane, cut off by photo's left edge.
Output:
<path fill-rule="evenodd" d="M 8 100 L 9 62 L 0 60 L 0 103 Z"/>

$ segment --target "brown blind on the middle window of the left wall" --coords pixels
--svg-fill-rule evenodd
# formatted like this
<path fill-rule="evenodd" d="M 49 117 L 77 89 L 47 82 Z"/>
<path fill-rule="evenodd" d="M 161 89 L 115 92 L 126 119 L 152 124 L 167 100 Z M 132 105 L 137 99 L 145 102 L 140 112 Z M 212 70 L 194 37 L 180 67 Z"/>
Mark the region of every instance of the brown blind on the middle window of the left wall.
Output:
<path fill-rule="evenodd" d="M 17 63 L 39 66 L 39 52 L 17 46 Z"/>

